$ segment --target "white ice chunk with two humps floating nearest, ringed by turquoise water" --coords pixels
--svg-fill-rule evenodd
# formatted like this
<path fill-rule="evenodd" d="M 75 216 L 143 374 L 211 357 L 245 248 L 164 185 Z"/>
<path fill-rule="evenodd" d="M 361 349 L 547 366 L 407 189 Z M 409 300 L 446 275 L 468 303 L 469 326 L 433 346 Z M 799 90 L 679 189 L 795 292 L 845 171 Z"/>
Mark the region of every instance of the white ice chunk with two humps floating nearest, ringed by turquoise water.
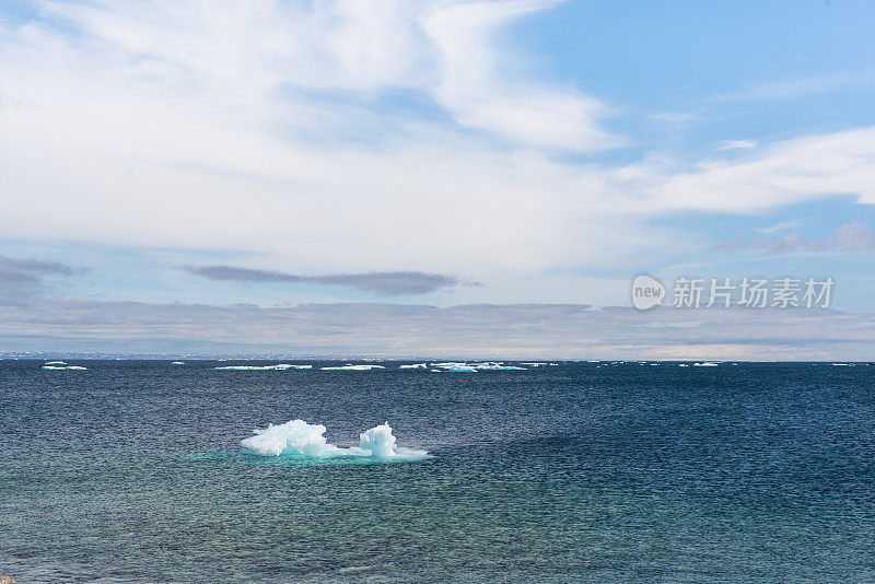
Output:
<path fill-rule="evenodd" d="M 322 424 L 292 420 L 284 424 L 270 424 L 255 430 L 255 435 L 241 441 L 247 451 L 260 456 L 289 456 L 304 459 L 372 458 L 377 460 L 420 460 L 429 457 L 425 451 L 415 451 L 396 445 L 388 422 L 359 434 L 359 446 L 345 448 L 329 444 Z"/>

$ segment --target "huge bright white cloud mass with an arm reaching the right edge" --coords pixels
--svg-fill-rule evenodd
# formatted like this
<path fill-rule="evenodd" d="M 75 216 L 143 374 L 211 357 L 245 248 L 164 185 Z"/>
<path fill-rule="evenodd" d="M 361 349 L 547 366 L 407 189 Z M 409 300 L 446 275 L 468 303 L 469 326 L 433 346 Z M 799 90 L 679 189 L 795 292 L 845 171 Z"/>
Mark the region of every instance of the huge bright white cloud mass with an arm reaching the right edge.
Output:
<path fill-rule="evenodd" d="M 522 73 L 508 27 L 548 0 L 40 5 L 44 21 L 0 23 L 7 237 L 245 249 L 261 254 L 247 267 L 454 273 L 486 284 L 464 291 L 477 301 L 576 301 L 618 289 L 585 290 L 582 267 L 701 247 L 655 213 L 875 203 L 873 129 L 680 174 L 655 155 L 560 162 L 621 140 L 585 87 Z"/>

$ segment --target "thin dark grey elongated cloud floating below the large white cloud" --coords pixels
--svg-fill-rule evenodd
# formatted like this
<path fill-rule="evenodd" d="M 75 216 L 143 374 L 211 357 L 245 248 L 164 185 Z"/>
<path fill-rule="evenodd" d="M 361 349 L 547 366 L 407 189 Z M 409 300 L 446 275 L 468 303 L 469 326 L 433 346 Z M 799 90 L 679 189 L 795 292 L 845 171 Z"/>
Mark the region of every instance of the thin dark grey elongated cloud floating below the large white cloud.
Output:
<path fill-rule="evenodd" d="M 457 285 L 477 285 L 463 282 L 455 276 L 421 271 L 371 271 L 365 273 L 332 273 L 325 276 L 299 276 L 272 270 L 254 270 L 234 266 L 186 266 L 187 272 L 210 280 L 231 282 L 288 282 L 319 285 L 339 285 L 373 292 L 383 296 L 404 294 L 428 294 Z"/>

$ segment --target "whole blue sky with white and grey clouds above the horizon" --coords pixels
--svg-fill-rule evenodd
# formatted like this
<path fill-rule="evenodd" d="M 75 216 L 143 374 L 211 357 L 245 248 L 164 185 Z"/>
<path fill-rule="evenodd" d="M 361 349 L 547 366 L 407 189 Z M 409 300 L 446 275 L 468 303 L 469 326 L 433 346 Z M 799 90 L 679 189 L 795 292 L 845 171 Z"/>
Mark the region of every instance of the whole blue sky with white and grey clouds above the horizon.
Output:
<path fill-rule="evenodd" d="M 0 352 L 873 360 L 872 22 L 2 2 Z M 640 273 L 663 306 L 631 306 Z M 746 277 L 835 288 L 672 306 Z"/>

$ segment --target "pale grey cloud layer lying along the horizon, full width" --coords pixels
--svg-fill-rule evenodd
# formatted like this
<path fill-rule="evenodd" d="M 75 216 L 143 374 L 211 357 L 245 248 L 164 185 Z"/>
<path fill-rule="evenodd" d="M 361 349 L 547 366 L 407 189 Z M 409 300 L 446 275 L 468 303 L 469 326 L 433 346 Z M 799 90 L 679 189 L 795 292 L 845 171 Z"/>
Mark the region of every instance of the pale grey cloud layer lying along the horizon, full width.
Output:
<path fill-rule="evenodd" d="M 875 319 L 831 309 L 571 304 L 0 306 L 0 351 L 548 359 L 873 360 Z"/>

